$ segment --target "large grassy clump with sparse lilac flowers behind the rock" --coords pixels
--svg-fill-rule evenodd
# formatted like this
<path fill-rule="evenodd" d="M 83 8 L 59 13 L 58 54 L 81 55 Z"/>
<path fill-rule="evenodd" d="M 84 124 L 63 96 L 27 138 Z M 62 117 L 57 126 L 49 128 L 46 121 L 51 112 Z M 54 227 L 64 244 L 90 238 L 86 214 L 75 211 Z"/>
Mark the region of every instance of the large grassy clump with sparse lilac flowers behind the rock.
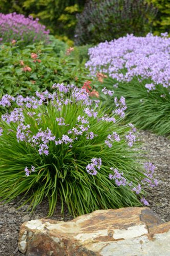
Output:
<path fill-rule="evenodd" d="M 145 202 L 142 186 L 156 181 L 153 166 L 139 163 L 134 126 L 119 125 L 85 89 L 53 89 L 0 101 L 1 201 L 22 194 L 34 209 L 47 197 L 49 214 L 60 201 L 73 215 Z M 123 98 L 115 102 L 125 108 Z"/>

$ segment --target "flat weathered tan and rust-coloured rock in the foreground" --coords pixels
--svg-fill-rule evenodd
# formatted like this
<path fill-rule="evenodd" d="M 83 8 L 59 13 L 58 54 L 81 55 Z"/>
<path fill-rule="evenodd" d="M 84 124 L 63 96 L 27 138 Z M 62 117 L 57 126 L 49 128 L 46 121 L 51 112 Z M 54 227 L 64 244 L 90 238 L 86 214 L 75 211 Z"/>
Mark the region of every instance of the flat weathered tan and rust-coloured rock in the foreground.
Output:
<path fill-rule="evenodd" d="M 99 210 L 68 222 L 22 224 L 19 250 L 27 256 L 169 256 L 170 222 L 149 208 Z"/>

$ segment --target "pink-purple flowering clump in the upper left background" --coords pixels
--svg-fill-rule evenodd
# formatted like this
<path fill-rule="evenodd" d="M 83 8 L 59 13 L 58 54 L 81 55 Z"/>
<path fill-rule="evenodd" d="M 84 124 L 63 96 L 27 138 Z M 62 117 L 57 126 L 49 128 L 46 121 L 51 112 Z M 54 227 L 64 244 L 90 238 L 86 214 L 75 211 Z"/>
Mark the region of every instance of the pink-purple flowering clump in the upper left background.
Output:
<path fill-rule="evenodd" d="M 23 44 L 44 41 L 48 42 L 49 30 L 46 30 L 44 25 L 38 23 L 38 18 L 35 20 L 29 16 L 26 18 L 23 14 L 0 13 L 0 38 L 1 43 L 23 41 Z"/>

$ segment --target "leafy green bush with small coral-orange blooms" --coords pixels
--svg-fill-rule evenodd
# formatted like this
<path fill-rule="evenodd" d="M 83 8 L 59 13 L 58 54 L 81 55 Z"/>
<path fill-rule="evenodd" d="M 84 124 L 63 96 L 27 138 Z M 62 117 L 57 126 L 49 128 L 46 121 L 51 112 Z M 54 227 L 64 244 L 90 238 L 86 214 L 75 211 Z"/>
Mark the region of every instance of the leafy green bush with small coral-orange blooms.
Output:
<path fill-rule="evenodd" d="M 66 54 L 66 44 L 52 39 L 50 45 L 17 44 L 0 46 L 0 95 L 31 95 L 51 89 L 53 83 L 75 83 L 82 87 L 88 71 Z"/>

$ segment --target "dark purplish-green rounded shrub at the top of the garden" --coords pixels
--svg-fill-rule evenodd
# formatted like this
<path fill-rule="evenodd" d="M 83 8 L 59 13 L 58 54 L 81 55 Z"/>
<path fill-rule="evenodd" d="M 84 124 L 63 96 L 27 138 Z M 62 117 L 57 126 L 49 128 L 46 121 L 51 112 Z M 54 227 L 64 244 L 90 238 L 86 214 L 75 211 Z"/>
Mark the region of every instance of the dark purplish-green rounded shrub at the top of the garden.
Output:
<path fill-rule="evenodd" d="M 91 0 L 77 14 L 75 44 L 96 44 L 126 34 L 143 36 L 151 32 L 155 15 L 143 0 Z"/>

